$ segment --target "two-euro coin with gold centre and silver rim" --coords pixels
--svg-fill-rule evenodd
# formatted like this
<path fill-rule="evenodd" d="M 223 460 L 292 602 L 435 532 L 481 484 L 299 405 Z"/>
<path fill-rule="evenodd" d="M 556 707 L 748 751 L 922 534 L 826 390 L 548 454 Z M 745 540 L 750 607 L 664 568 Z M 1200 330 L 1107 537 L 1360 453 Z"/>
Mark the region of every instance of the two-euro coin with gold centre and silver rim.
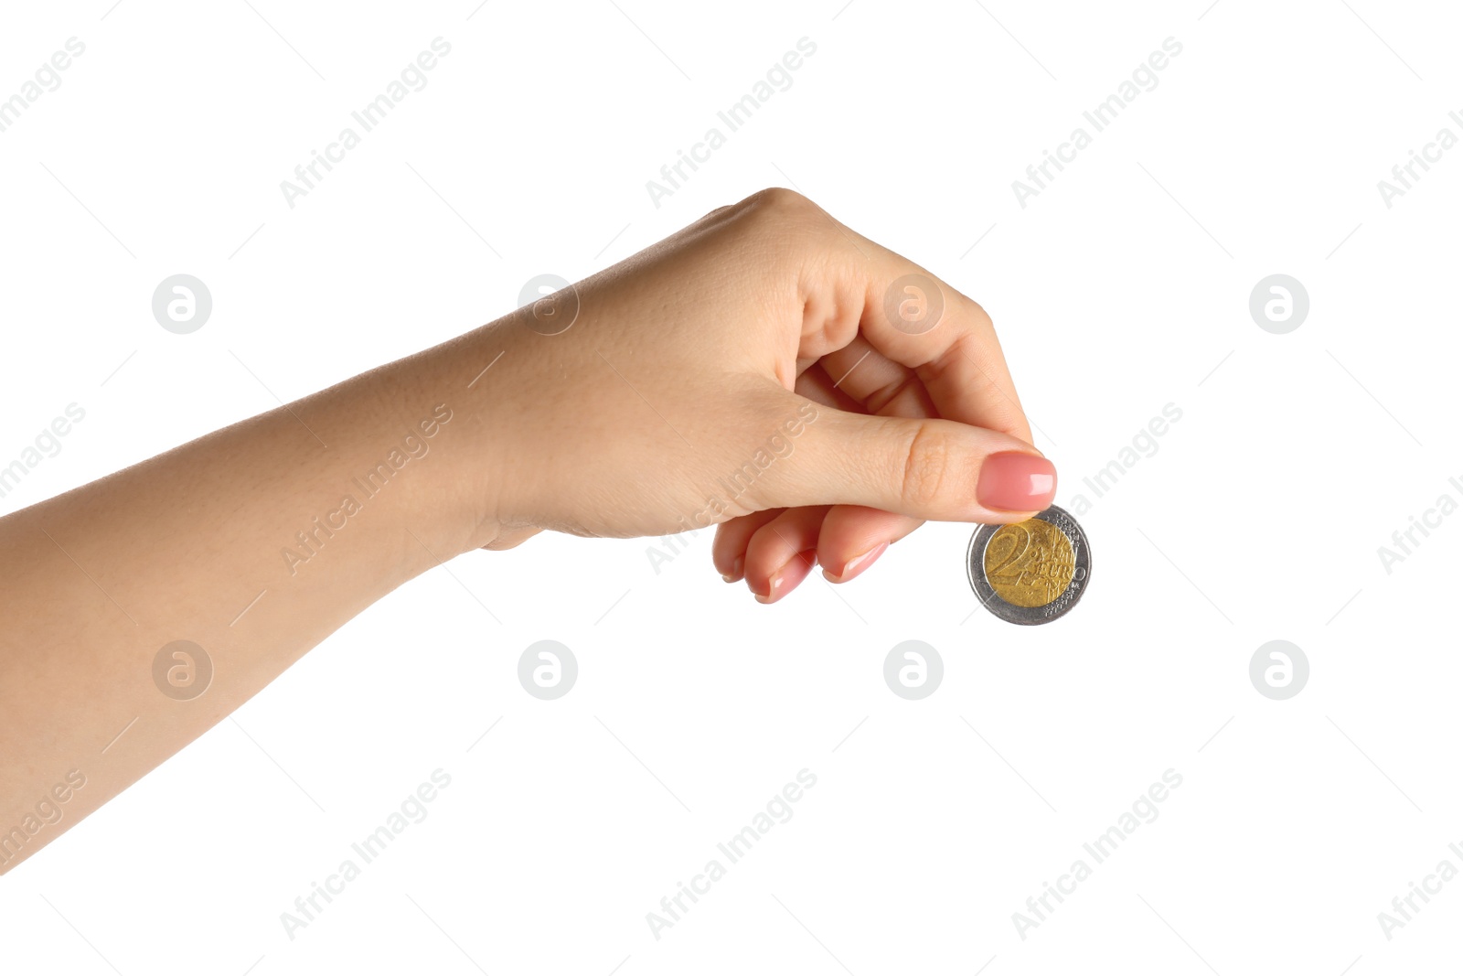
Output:
<path fill-rule="evenodd" d="M 1014 525 L 982 525 L 966 556 L 970 588 L 1008 623 L 1048 623 L 1081 600 L 1091 549 L 1077 519 L 1053 505 Z"/>

